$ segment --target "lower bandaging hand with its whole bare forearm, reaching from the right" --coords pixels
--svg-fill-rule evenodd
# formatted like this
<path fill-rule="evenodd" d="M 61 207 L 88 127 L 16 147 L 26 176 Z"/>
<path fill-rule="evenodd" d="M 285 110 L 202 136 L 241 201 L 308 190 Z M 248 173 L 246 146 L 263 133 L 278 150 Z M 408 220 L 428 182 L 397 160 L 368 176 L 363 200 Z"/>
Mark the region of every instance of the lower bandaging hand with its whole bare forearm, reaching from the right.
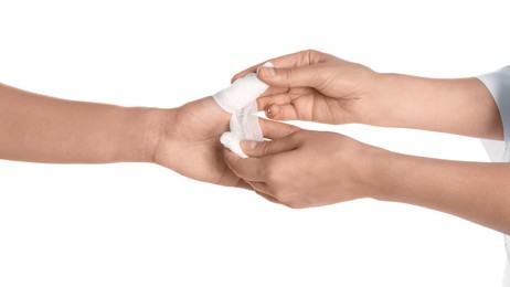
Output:
<path fill-rule="evenodd" d="M 233 172 L 267 200 L 301 209 L 372 198 L 510 233 L 509 164 L 401 155 L 332 132 L 285 134 L 257 145 L 243 142 L 252 158 L 224 151 Z"/>

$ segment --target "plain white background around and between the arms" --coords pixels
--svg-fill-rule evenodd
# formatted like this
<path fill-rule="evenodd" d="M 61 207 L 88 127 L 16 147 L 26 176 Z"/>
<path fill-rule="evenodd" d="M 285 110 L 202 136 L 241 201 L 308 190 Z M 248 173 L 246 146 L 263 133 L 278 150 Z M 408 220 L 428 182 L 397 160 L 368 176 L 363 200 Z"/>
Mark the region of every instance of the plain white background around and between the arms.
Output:
<path fill-rule="evenodd" d="M 379 72 L 472 76 L 510 63 L 509 11 L 488 0 L 0 1 L 0 82 L 174 107 L 304 49 Z M 487 161 L 477 139 L 307 127 Z M 498 232 L 416 206 L 290 210 L 147 163 L 0 161 L 2 287 L 500 286 L 503 263 Z"/>

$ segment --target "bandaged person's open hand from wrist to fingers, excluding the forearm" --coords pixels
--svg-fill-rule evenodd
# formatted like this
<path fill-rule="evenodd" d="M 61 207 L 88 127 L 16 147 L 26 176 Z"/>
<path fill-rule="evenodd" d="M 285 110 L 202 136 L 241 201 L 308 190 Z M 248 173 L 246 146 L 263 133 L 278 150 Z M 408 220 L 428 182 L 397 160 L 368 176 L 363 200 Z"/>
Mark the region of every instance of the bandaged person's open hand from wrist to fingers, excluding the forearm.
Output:
<path fill-rule="evenodd" d="M 229 130 L 230 117 L 212 97 L 167 110 L 153 161 L 191 179 L 251 189 L 223 160 L 220 136 Z M 259 124 L 267 135 L 296 129 L 264 119 Z"/>

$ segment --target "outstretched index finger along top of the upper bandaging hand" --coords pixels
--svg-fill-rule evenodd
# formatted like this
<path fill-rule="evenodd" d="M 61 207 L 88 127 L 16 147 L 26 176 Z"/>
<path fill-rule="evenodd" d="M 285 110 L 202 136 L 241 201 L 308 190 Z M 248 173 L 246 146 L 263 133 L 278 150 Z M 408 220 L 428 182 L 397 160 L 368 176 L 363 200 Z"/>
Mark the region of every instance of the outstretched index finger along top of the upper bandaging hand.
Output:
<path fill-rule="evenodd" d="M 262 62 L 259 64 L 256 64 L 254 66 L 251 66 L 235 74 L 232 77 L 231 83 L 234 83 L 237 78 L 244 77 L 245 75 L 249 73 L 257 72 L 258 67 L 261 67 L 264 63 L 267 63 L 267 62 L 270 62 L 276 67 L 297 67 L 297 66 L 304 66 L 304 65 L 310 65 L 312 63 L 317 63 L 320 59 L 319 54 L 320 52 L 312 51 L 312 50 L 306 50 L 306 51 L 300 51 L 297 53 L 275 57 L 275 59 Z"/>

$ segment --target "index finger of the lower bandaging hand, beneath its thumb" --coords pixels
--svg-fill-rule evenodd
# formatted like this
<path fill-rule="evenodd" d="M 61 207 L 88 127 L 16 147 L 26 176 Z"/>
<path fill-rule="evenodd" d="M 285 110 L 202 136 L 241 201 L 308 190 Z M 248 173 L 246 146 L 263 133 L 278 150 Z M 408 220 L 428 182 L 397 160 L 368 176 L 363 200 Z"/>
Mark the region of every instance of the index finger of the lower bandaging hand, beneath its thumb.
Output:
<path fill-rule="evenodd" d="M 243 159 L 227 149 L 223 150 L 223 158 L 235 176 L 245 181 L 262 181 L 259 159 Z"/>

